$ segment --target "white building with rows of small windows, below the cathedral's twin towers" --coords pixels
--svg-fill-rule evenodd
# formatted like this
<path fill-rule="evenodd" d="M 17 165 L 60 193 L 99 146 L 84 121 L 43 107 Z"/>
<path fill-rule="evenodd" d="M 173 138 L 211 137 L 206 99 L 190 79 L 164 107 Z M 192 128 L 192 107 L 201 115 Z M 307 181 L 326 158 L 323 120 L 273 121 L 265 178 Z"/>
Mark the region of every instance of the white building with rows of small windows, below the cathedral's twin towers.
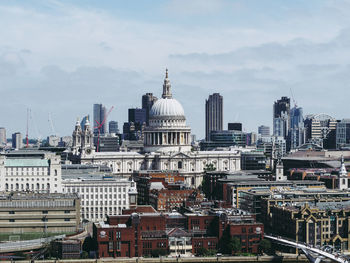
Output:
<path fill-rule="evenodd" d="M 77 193 L 81 198 L 82 220 L 103 221 L 106 215 L 120 215 L 137 204 L 136 184 L 127 178 L 64 179 L 62 186 L 64 193 Z"/>

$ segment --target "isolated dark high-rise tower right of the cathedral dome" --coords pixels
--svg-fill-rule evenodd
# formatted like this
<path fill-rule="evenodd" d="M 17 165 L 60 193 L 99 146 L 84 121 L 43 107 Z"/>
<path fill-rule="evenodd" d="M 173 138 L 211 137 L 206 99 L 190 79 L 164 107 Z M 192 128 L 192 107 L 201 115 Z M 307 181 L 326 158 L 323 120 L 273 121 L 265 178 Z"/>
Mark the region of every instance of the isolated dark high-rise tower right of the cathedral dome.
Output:
<path fill-rule="evenodd" d="M 223 97 L 214 93 L 205 101 L 205 140 L 210 140 L 211 131 L 222 131 Z"/>

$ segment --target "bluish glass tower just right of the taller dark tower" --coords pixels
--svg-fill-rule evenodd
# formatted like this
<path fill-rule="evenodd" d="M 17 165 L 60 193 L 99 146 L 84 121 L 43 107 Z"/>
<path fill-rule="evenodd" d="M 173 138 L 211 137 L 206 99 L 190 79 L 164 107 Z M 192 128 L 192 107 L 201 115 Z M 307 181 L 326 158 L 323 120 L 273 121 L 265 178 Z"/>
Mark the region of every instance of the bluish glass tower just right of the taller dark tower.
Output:
<path fill-rule="evenodd" d="M 305 142 L 303 108 L 294 106 L 290 110 L 290 148 L 297 149 Z"/>

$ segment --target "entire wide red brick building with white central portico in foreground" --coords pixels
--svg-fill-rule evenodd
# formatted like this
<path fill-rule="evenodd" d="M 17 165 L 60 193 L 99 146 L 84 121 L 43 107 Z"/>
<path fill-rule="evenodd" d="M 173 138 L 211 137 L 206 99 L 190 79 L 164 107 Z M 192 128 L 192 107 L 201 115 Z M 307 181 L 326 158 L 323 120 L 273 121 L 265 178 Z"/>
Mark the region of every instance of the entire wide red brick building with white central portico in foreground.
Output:
<path fill-rule="evenodd" d="M 263 225 L 238 210 L 187 209 L 180 214 L 157 213 L 142 206 L 124 212 L 94 224 L 99 258 L 196 255 L 203 248 L 220 251 L 220 244 L 232 237 L 239 239 L 242 252 L 258 253 L 263 239 Z"/>

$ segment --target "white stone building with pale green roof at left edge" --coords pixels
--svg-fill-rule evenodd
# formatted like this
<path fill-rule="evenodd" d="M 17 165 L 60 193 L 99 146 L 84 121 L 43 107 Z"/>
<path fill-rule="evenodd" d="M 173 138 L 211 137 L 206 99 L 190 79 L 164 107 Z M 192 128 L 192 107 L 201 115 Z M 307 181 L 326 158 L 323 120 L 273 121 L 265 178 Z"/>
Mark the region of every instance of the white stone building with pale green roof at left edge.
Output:
<path fill-rule="evenodd" d="M 61 158 L 54 153 L 13 151 L 0 155 L 0 191 L 61 193 Z"/>

